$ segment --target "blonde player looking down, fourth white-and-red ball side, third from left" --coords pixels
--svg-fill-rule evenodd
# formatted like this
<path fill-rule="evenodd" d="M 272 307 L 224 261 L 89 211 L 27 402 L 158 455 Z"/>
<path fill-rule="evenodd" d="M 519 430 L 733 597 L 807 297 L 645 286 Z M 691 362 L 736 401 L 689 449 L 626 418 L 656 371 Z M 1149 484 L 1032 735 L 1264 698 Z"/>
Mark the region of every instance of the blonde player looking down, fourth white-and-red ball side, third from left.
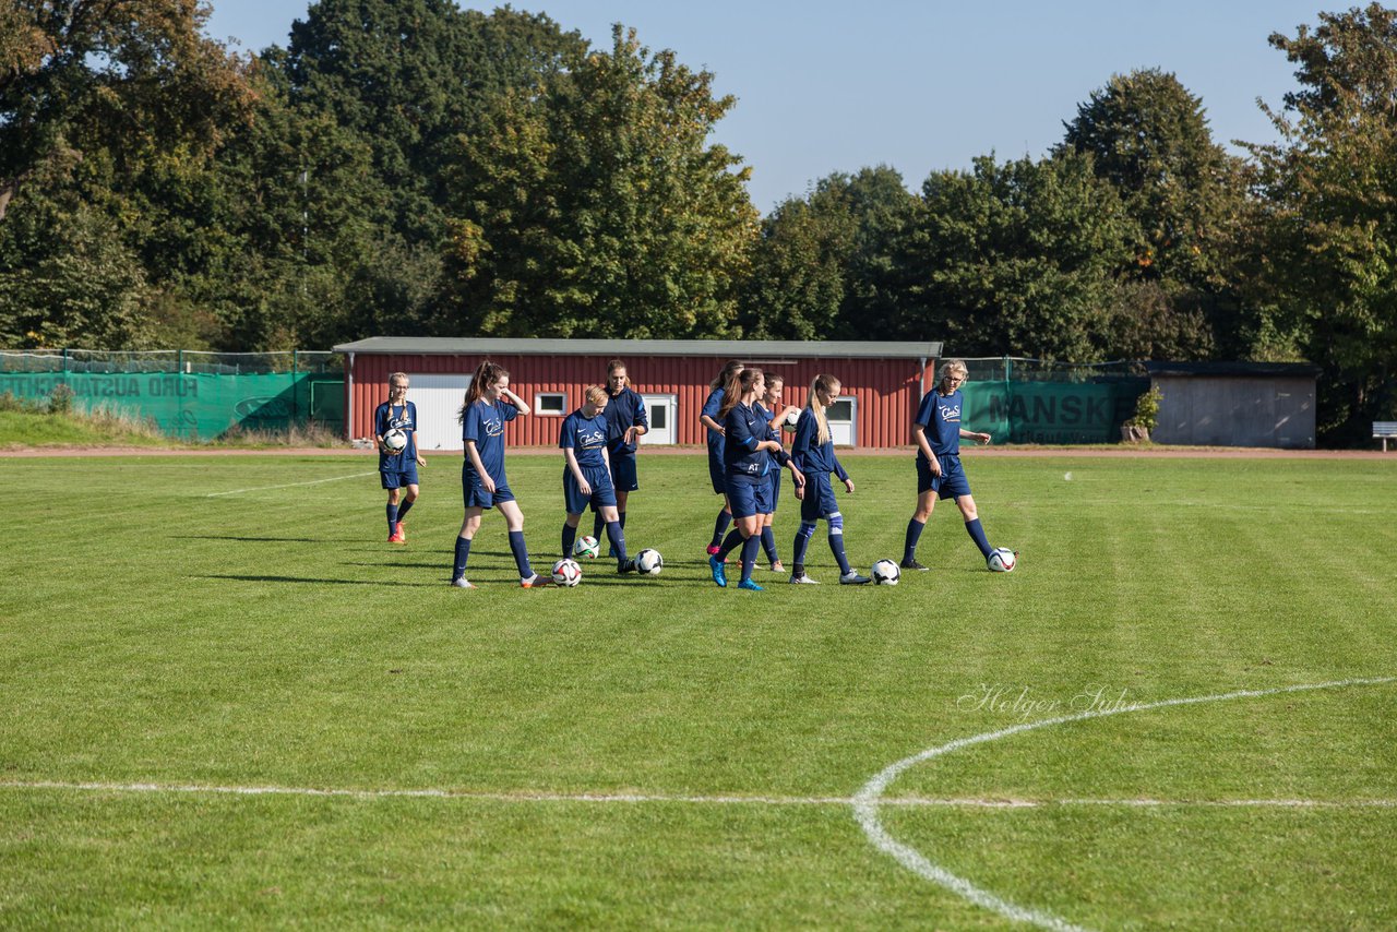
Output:
<path fill-rule="evenodd" d="M 612 486 L 610 467 L 606 456 L 606 390 L 601 386 L 587 386 L 583 391 L 583 407 L 563 419 L 557 433 L 557 446 L 563 449 L 563 502 L 567 506 L 567 523 L 563 524 L 563 556 L 573 555 L 573 541 L 577 539 L 577 523 L 591 503 L 597 518 L 606 523 L 606 537 L 616 558 L 616 571 L 630 573 L 630 559 L 626 556 L 626 534 L 616 514 L 616 490 Z"/>

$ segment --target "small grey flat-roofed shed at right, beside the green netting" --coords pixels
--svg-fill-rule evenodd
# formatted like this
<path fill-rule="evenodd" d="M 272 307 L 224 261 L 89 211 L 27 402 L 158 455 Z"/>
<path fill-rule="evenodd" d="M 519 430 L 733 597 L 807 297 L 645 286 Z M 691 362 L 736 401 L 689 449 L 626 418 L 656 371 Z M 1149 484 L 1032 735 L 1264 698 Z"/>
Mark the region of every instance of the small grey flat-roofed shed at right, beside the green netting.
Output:
<path fill-rule="evenodd" d="M 1273 362 L 1150 362 L 1160 390 L 1157 443 L 1315 447 L 1319 366 Z"/>

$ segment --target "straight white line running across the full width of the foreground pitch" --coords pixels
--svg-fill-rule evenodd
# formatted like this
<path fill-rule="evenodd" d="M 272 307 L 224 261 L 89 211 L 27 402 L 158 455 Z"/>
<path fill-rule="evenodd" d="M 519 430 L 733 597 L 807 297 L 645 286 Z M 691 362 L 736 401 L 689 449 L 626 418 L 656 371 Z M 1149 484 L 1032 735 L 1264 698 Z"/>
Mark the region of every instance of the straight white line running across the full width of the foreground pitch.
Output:
<path fill-rule="evenodd" d="M 854 796 L 743 796 L 669 795 L 655 792 L 543 792 L 483 789 L 337 789 L 324 787 L 219 787 L 159 782 L 64 782 L 57 780 L 0 781 L 0 789 L 75 792 L 212 794 L 232 796 L 331 796 L 349 799 L 461 799 L 485 802 L 686 803 L 697 806 L 852 806 Z M 1052 806 L 1129 808 L 1281 808 L 1281 809 L 1397 809 L 1397 799 L 1013 799 L 975 796 L 886 796 L 882 806 L 949 809 L 1046 809 Z"/>

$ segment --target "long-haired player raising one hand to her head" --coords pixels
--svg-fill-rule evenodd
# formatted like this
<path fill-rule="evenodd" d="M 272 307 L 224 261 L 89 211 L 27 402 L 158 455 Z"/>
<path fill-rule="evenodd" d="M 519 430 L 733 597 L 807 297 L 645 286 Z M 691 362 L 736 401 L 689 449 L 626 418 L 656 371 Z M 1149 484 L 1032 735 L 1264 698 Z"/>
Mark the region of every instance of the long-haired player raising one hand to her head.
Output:
<path fill-rule="evenodd" d="M 481 528 L 485 509 L 497 507 L 510 532 L 510 551 L 520 570 L 520 585 L 534 588 L 552 581 L 539 576 L 528 562 L 524 546 L 524 513 L 504 475 L 504 425 L 521 414 L 531 414 L 524 400 L 510 391 L 510 373 L 489 359 L 482 362 L 465 390 L 461 405 L 461 439 L 465 440 L 465 463 L 461 465 L 461 492 L 465 497 L 465 520 L 455 539 L 455 562 L 451 585 L 475 588 L 465 578 L 465 563 L 471 556 L 471 541 Z"/>

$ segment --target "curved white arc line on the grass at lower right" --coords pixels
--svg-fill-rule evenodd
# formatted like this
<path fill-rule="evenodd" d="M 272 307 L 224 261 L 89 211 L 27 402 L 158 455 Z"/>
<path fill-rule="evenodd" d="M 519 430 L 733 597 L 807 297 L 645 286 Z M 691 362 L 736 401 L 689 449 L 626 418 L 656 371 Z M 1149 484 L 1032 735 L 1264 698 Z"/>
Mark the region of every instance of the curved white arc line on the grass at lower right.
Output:
<path fill-rule="evenodd" d="M 936 757 L 943 757 L 957 750 L 965 748 L 972 748 L 975 745 L 983 745 L 992 741 L 999 741 L 1000 738 L 1010 738 L 1013 735 L 1020 735 L 1028 731 L 1037 731 L 1039 728 L 1051 728 L 1055 725 L 1066 725 L 1069 722 L 1087 721 L 1090 718 L 1105 718 L 1108 715 L 1123 715 L 1126 713 L 1148 711 L 1151 708 L 1169 708 L 1173 706 L 1197 706 L 1201 703 L 1221 703 L 1232 699 L 1257 699 L 1261 696 L 1280 696 L 1285 693 L 1301 693 L 1310 692 L 1316 689 L 1341 689 L 1345 686 L 1376 686 L 1382 683 L 1397 682 L 1397 676 L 1377 676 L 1370 679 L 1341 679 L 1329 683 L 1305 683 L 1299 686 L 1281 686 L 1277 689 L 1245 689 L 1235 693 L 1221 693 L 1217 696 L 1189 696 L 1183 699 L 1165 699 L 1157 703 L 1137 703 L 1132 706 L 1122 706 L 1119 708 L 1102 708 L 1077 713 L 1073 715 L 1059 715 L 1056 718 L 1045 718 L 1042 721 L 1024 722 L 1021 725 L 1013 725 L 1010 728 L 1002 728 L 999 731 L 986 731 L 979 735 L 971 735 L 970 738 L 958 738 L 956 741 L 939 745 L 936 748 L 928 748 L 926 750 L 912 755 L 911 757 L 904 757 L 894 764 L 884 767 L 876 777 L 869 780 L 863 788 L 854 796 L 854 815 L 858 819 L 859 827 L 863 829 L 863 834 L 868 836 L 869 841 L 873 843 L 876 848 L 884 854 L 891 855 L 908 871 L 921 875 L 922 878 L 946 887 L 951 893 L 956 893 L 964 900 L 974 903 L 975 905 L 983 907 L 999 915 L 1011 919 L 1014 922 L 1028 922 L 1044 929 L 1053 929 L 1055 932 L 1085 932 L 1080 925 L 1073 925 L 1066 919 L 1062 919 L 1051 912 L 1041 910 L 1031 910 L 1027 907 L 1017 905 L 999 897 L 989 890 L 975 886 L 965 878 L 957 876 L 947 871 L 946 868 L 933 864 L 916 848 L 902 844 L 883 827 L 883 822 L 879 819 L 879 806 L 893 802 L 891 799 L 883 799 L 883 794 L 887 791 L 888 785 L 897 780 L 904 771 L 915 767 L 916 764 L 933 760 Z"/>

